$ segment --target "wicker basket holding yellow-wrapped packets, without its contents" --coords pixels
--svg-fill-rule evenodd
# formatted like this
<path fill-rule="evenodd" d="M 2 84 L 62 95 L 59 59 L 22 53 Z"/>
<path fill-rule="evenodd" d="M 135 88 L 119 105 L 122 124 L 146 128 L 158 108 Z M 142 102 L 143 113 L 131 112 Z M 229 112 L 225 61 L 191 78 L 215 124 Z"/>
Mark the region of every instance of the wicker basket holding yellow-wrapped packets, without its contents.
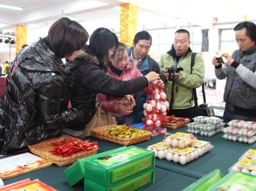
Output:
<path fill-rule="evenodd" d="M 92 136 L 98 139 L 107 140 L 108 142 L 113 142 L 113 143 L 124 145 L 124 146 L 145 142 L 146 140 L 149 140 L 151 137 L 151 135 L 145 135 L 145 136 L 135 137 L 135 138 L 121 138 L 121 137 L 116 137 L 116 136 L 106 134 L 106 131 L 108 131 L 111 127 L 115 127 L 115 126 L 116 124 L 94 128 L 92 129 Z"/>

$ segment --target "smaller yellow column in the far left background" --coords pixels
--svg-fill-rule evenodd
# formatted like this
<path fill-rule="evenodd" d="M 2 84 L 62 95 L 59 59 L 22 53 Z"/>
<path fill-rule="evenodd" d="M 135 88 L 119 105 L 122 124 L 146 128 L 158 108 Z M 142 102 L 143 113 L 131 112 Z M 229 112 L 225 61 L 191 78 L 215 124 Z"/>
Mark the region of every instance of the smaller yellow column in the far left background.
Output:
<path fill-rule="evenodd" d="M 22 45 L 27 44 L 27 26 L 17 25 L 15 26 L 16 35 L 16 53 L 18 53 Z"/>

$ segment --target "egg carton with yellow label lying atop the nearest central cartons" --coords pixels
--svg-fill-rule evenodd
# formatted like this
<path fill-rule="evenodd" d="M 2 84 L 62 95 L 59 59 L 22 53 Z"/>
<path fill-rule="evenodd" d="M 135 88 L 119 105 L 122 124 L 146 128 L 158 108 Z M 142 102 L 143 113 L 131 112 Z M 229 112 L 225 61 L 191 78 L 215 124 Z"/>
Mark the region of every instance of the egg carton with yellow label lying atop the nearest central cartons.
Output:
<path fill-rule="evenodd" d="M 193 134 L 176 132 L 175 134 L 165 134 L 163 141 L 166 143 L 166 145 L 172 146 L 173 148 L 184 148 L 192 144 L 195 140 L 196 137 Z"/>

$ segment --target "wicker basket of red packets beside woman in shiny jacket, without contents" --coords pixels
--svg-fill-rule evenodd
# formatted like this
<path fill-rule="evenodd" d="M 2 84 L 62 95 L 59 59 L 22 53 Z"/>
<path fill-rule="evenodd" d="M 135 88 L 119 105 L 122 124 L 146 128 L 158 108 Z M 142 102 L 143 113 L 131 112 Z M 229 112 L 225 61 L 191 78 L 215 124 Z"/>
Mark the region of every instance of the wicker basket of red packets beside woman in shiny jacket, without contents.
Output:
<path fill-rule="evenodd" d="M 54 146 L 52 145 L 53 142 L 60 142 L 61 140 L 66 139 L 67 137 L 68 136 L 62 135 L 60 137 L 45 139 L 37 144 L 29 145 L 28 148 L 31 151 L 31 153 L 34 153 L 37 156 L 41 156 L 44 159 L 49 160 L 54 164 L 57 164 L 59 167 L 74 163 L 78 159 L 82 159 L 86 156 L 97 154 L 98 148 L 89 152 L 86 151 L 67 157 L 63 157 L 61 155 L 53 155 L 52 153 L 49 152 L 54 148 Z"/>

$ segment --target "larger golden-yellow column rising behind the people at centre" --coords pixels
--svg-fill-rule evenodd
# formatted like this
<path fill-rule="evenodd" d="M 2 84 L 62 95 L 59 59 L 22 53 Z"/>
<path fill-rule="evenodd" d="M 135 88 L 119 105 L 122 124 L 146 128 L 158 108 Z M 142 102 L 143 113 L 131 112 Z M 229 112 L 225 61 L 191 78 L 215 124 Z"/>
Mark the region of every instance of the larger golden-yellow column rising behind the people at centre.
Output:
<path fill-rule="evenodd" d="M 132 46 L 137 33 L 138 6 L 132 3 L 121 4 L 119 41 L 126 46 Z"/>

